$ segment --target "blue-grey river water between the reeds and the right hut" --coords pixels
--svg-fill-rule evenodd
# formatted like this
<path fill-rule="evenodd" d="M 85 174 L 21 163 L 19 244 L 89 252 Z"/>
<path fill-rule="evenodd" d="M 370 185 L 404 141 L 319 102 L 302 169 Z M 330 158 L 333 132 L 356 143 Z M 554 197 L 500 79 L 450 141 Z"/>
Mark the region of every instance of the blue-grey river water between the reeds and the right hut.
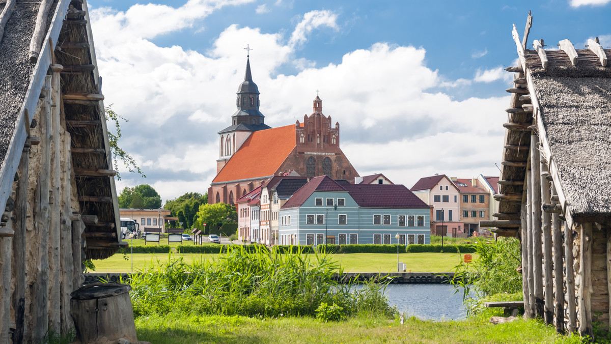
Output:
<path fill-rule="evenodd" d="M 462 320 L 466 317 L 463 294 L 454 294 L 447 284 L 389 284 L 389 304 L 397 306 L 407 317 L 423 320 Z"/>

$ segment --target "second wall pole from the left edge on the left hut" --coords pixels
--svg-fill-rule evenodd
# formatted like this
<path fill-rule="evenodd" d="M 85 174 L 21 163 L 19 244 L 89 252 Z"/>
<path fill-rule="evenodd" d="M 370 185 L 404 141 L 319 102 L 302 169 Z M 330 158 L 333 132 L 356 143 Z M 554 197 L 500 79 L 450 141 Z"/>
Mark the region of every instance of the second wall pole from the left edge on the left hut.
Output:
<path fill-rule="evenodd" d="M 13 274 L 15 291 L 13 293 L 13 312 L 15 312 L 15 332 L 13 343 L 24 342 L 24 319 L 26 312 L 26 214 L 27 214 L 27 178 L 29 166 L 29 148 L 24 147 L 17 170 L 15 197 L 15 235 L 13 236 Z"/>

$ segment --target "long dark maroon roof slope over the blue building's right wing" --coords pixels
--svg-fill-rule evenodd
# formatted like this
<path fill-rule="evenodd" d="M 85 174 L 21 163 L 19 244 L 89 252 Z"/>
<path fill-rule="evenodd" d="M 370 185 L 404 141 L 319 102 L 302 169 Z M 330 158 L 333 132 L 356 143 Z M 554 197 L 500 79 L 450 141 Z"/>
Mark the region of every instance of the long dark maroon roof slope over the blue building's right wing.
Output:
<path fill-rule="evenodd" d="M 343 185 L 354 201 L 364 208 L 430 208 L 404 185 Z"/>

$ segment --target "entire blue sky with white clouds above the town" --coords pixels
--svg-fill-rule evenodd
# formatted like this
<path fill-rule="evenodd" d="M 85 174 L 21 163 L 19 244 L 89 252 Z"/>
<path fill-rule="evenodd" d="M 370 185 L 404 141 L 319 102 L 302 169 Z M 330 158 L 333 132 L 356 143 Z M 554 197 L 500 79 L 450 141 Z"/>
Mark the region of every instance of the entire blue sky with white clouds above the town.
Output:
<path fill-rule="evenodd" d="M 360 175 L 499 175 L 516 48 L 511 24 L 548 48 L 611 46 L 611 0 L 90 0 L 104 103 L 129 120 L 120 146 L 164 200 L 206 192 L 251 51 L 271 126 L 323 112 Z"/>

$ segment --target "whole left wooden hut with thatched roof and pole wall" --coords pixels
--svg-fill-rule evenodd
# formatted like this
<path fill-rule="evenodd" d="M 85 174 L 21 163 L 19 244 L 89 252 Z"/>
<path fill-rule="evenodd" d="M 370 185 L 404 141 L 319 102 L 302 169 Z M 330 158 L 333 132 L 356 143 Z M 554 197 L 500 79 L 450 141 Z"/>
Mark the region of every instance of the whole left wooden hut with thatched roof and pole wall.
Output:
<path fill-rule="evenodd" d="M 0 11 L 0 343 L 40 343 L 74 327 L 82 260 L 126 243 L 87 1 Z"/>

